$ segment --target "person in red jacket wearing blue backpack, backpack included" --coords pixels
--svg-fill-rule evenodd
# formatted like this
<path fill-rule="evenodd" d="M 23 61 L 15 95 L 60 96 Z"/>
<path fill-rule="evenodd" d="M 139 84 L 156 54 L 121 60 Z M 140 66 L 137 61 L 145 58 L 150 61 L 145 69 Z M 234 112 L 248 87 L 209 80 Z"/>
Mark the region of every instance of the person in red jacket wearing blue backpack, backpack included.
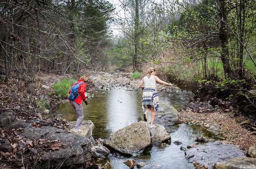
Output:
<path fill-rule="evenodd" d="M 84 119 L 84 109 L 82 101 L 86 101 L 86 97 L 84 95 L 86 83 L 88 82 L 89 78 L 86 75 L 81 76 L 77 82 L 73 83 L 70 91 L 68 92 L 71 94 L 69 96 L 69 101 L 73 108 L 76 110 L 76 126 L 74 132 L 82 132 L 83 130 L 79 129 Z M 72 91 L 72 93 L 71 93 Z"/>

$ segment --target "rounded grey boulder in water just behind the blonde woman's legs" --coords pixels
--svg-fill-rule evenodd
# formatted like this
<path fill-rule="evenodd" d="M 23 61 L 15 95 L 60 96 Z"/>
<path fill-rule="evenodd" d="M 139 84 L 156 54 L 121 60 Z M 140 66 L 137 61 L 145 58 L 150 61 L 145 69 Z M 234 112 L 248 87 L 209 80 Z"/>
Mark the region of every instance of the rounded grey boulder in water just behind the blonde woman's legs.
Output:
<path fill-rule="evenodd" d="M 158 109 L 154 123 L 172 125 L 178 119 L 178 111 L 172 106 L 167 106 Z"/>

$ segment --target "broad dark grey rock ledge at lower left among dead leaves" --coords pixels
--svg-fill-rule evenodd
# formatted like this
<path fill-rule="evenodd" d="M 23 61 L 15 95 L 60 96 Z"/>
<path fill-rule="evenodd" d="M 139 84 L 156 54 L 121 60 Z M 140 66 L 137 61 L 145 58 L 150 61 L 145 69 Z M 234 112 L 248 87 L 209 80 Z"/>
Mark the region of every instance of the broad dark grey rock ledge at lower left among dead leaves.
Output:
<path fill-rule="evenodd" d="M 52 126 L 26 127 L 21 136 L 29 139 L 57 140 L 64 148 L 42 154 L 40 167 L 42 169 L 68 167 L 83 168 L 85 160 L 91 159 L 91 141 L 84 136 L 65 133 L 62 129 Z M 72 167 L 71 167 L 72 166 Z"/>

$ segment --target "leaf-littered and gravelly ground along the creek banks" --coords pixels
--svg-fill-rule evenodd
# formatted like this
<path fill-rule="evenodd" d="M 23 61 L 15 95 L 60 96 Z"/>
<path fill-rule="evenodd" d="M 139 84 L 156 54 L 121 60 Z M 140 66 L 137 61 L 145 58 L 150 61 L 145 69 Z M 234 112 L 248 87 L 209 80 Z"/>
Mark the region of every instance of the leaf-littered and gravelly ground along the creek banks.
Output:
<path fill-rule="evenodd" d="M 85 70 L 85 74 L 89 76 L 90 82 L 87 85 L 87 89 L 94 88 L 111 88 L 115 86 L 126 86 L 131 89 L 138 89 L 138 84 L 141 79 L 131 78 L 131 73 L 125 72 L 99 72 Z M 81 74 L 79 75 L 81 76 Z M 68 102 L 68 99 L 60 100 L 57 96 L 49 96 L 49 92 L 54 92 L 52 86 L 56 81 L 60 79 L 68 78 L 79 78 L 75 74 L 66 74 L 60 76 L 51 73 L 39 73 L 37 81 L 34 83 L 26 83 L 16 74 L 12 74 L 8 83 L 3 83 L 0 86 L 0 111 L 12 111 L 16 113 L 16 119 L 26 122 L 27 119 L 37 119 L 41 122 L 38 124 L 32 124 L 33 126 L 44 126 L 51 125 L 60 129 L 66 130 L 68 128 L 68 121 L 61 118 L 47 118 L 40 105 L 44 102 L 50 103 L 50 107 L 54 108 L 59 103 Z M 3 78 L 3 76 L 2 76 Z M 158 90 L 163 91 L 175 91 L 175 92 L 186 92 L 180 90 L 178 87 L 169 87 L 165 85 L 157 85 Z M 50 102 L 49 102 L 50 101 Z M 192 102 L 190 104 L 196 105 L 201 104 L 202 106 L 186 106 L 185 110 L 179 112 L 180 121 L 184 123 L 192 122 L 199 124 L 214 124 L 217 123 L 222 127 L 222 134 L 225 137 L 227 143 L 232 143 L 240 146 L 240 149 L 248 150 L 250 146 L 256 145 L 256 135 L 253 129 L 256 128 L 256 124 L 246 123 L 240 125 L 243 121 L 249 121 L 246 116 L 234 116 L 229 110 L 219 108 L 215 110 L 209 108 L 208 103 L 201 103 L 199 101 Z M 199 108 L 200 107 L 200 108 Z M 39 113 L 41 112 L 41 113 Z M 8 139 L 12 145 L 18 145 L 16 140 L 16 134 L 10 134 L 5 128 L 0 128 L 0 141 L 8 135 Z M 16 147 L 17 149 L 18 147 Z M 18 150 L 17 150 L 18 152 Z M 13 160 L 19 159 L 17 152 L 2 152 L 0 151 L 1 160 Z M 16 156 L 13 156 L 15 155 Z M 0 168 L 6 168 L 3 163 L 0 163 Z"/>

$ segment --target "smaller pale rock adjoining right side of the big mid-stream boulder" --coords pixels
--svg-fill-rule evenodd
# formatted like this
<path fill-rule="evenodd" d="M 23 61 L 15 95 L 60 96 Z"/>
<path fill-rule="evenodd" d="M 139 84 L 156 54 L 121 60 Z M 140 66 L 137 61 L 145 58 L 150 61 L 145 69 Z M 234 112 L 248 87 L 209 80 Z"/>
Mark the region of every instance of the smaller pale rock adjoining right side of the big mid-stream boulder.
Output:
<path fill-rule="evenodd" d="M 171 136 L 169 133 L 167 133 L 165 127 L 160 126 L 159 124 L 155 124 L 155 127 L 149 131 L 152 143 L 161 143 L 171 139 Z"/>

